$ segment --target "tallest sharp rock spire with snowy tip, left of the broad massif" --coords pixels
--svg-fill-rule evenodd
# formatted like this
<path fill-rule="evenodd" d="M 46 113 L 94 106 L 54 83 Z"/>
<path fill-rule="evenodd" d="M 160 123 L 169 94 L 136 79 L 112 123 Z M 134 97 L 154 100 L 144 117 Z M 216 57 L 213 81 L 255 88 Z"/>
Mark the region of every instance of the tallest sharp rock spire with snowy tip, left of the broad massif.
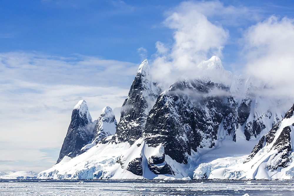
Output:
<path fill-rule="evenodd" d="M 121 108 L 121 120 L 116 129 L 113 141 L 128 141 L 131 145 L 143 135 L 148 113 L 161 89 L 151 81 L 147 60 L 142 62 L 131 85 L 128 97 Z"/>

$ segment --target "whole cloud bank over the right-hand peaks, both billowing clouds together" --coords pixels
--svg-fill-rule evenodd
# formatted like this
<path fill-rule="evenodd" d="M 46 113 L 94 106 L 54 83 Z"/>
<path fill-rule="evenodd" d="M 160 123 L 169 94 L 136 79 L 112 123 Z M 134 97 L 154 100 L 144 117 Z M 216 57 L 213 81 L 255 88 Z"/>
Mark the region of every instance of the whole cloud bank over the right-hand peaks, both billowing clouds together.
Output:
<path fill-rule="evenodd" d="M 294 82 L 293 19 L 220 1 L 187 1 L 167 11 L 163 24 L 173 31 L 173 40 L 157 41 L 157 52 L 149 62 L 153 76 L 165 88 L 187 72 L 191 77 L 201 75 L 197 65 L 203 60 L 232 57 L 223 51 L 233 47 L 238 50 L 236 63 L 224 67 L 232 66 L 239 74 L 261 79 L 273 91 L 294 96 L 289 92 Z"/>

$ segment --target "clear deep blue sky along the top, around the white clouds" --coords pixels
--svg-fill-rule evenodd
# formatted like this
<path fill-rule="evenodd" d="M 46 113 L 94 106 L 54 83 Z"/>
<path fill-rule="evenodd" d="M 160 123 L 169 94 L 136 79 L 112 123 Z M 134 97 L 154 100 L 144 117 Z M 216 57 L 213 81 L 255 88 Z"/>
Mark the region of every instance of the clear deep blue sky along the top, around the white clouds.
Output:
<path fill-rule="evenodd" d="M 50 55 L 101 56 L 139 63 L 138 48 L 148 57 L 155 43 L 173 40 L 172 30 L 162 25 L 166 12 L 181 1 L 1 1 L 0 51 L 38 51 Z M 270 15 L 293 18 L 293 1 L 223 1 L 224 6 L 247 7 L 260 19 Z M 219 18 L 211 17 L 211 21 Z M 234 40 L 238 28 L 254 20 L 242 18 L 239 25 L 223 24 L 231 41 L 224 48 L 225 60 L 235 61 L 240 50 Z M 238 27 L 238 28 L 236 28 Z"/>

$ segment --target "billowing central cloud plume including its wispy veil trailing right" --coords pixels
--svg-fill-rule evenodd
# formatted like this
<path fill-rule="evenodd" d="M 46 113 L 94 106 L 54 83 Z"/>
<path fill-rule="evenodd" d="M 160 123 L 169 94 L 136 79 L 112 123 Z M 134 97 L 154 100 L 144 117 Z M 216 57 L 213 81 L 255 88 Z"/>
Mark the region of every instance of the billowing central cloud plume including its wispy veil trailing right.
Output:
<path fill-rule="evenodd" d="M 166 12 L 163 25 L 173 30 L 173 41 L 156 43 L 157 53 L 151 56 L 153 75 L 168 85 L 186 72 L 197 76 L 197 65 L 213 55 L 223 60 L 224 47 L 236 45 L 241 28 L 260 20 L 260 12 L 221 1 L 180 3 Z M 234 36 L 238 32 L 238 36 L 230 37 L 228 29 L 233 29 Z"/>

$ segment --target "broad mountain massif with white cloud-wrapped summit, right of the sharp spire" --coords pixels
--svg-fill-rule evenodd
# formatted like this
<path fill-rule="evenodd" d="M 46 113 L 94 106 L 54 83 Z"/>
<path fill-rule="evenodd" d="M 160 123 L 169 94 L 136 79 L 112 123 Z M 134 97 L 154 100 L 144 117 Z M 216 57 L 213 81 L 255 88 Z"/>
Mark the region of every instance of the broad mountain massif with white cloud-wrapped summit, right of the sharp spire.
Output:
<path fill-rule="evenodd" d="M 187 164 L 192 152 L 213 148 L 217 139 L 255 139 L 285 114 L 277 110 L 278 100 L 260 97 L 252 90 L 263 90 L 264 85 L 253 86 L 250 78 L 232 76 L 219 58 L 203 61 L 200 67 L 208 74 L 216 73 L 216 79 L 203 75 L 178 80 L 160 94 L 145 126 L 146 144 L 163 144 L 165 154 L 178 163 Z"/>

